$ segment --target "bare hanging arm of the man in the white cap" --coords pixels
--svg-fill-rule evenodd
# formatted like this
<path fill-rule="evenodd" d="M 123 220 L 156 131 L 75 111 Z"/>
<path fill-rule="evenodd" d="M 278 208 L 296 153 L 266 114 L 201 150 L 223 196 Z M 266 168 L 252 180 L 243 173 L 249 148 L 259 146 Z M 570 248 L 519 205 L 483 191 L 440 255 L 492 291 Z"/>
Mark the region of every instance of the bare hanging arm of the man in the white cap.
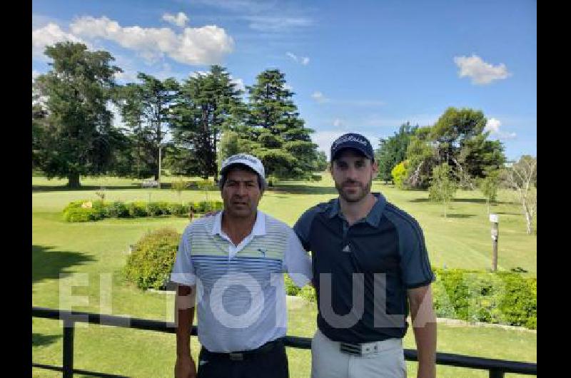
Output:
<path fill-rule="evenodd" d="M 191 357 L 191 327 L 194 320 L 196 285 L 178 285 L 176 295 L 176 378 L 196 377 L 196 364 Z"/>

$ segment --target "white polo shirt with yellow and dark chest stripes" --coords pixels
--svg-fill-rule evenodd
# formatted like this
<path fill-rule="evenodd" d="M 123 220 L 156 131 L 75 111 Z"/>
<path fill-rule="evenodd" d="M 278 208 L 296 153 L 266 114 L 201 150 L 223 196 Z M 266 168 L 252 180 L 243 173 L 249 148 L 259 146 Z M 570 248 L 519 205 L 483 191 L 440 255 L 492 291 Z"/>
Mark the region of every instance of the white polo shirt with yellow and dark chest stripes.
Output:
<path fill-rule="evenodd" d="M 302 287 L 311 260 L 293 230 L 258 210 L 250 235 L 234 245 L 222 213 L 184 230 L 171 281 L 196 285 L 198 340 L 211 352 L 256 349 L 285 336 L 283 273 Z"/>

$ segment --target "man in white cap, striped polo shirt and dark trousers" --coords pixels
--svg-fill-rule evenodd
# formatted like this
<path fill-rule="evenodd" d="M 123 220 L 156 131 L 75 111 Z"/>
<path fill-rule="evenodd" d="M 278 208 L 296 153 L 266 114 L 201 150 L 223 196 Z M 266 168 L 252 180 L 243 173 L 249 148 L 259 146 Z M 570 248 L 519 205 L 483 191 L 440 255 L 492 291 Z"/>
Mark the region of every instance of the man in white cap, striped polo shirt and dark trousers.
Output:
<path fill-rule="evenodd" d="M 285 378 L 283 272 L 303 287 L 310 258 L 288 225 L 258 210 L 266 188 L 258 158 L 233 155 L 220 174 L 224 210 L 188 225 L 171 274 L 178 283 L 175 376 Z M 195 306 L 198 375 L 190 352 Z"/>

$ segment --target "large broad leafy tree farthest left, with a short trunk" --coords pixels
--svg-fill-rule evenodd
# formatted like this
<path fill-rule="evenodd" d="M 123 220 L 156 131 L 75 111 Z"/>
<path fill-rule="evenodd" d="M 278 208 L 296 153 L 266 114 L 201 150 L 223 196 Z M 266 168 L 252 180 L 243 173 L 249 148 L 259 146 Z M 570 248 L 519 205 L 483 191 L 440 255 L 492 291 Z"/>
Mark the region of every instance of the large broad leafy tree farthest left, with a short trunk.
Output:
<path fill-rule="evenodd" d="M 32 158 L 49 178 L 67 178 L 78 188 L 80 175 L 105 173 L 120 133 L 111 126 L 106 103 L 115 86 L 113 56 L 63 42 L 46 47 L 51 70 L 36 78 L 32 110 Z M 34 98 L 33 98 L 34 103 Z"/>

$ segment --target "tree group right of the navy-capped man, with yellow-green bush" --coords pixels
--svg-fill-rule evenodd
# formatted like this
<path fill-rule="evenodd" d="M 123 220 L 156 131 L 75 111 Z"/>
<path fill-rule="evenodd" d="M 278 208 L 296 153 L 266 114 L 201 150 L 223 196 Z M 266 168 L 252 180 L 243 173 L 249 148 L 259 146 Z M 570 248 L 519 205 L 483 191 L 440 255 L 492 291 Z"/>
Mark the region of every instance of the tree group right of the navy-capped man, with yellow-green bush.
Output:
<path fill-rule="evenodd" d="M 525 215 L 527 233 L 537 210 L 537 157 L 523 155 L 508 164 L 504 146 L 490 141 L 487 119 L 471 108 L 446 109 L 433 126 L 404 123 L 380 139 L 375 151 L 379 178 L 399 188 L 428 189 L 443 204 L 444 216 L 458 188 L 479 189 L 487 210 L 499 188 L 513 190 Z"/>

